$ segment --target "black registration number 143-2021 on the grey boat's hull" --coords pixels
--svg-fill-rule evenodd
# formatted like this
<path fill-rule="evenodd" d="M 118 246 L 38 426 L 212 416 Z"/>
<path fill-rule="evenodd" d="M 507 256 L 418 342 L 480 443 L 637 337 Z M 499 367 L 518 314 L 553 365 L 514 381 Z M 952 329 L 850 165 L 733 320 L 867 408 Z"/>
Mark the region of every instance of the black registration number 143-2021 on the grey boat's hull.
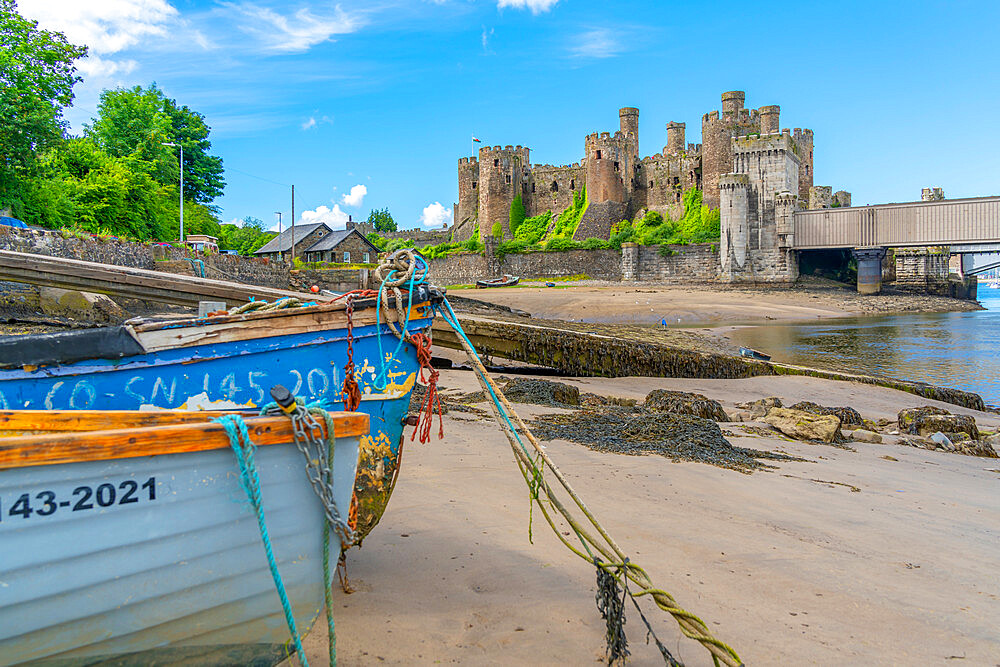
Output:
<path fill-rule="evenodd" d="M 132 505 L 156 500 L 156 478 L 143 483 L 126 479 L 117 484 L 105 482 L 97 486 L 78 486 L 69 497 L 58 496 L 55 491 L 22 493 L 16 498 L 0 498 L 0 522 L 29 519 L 32 516 L 51 516 L 59 510 L 85 512 L 87 510 Z"/>

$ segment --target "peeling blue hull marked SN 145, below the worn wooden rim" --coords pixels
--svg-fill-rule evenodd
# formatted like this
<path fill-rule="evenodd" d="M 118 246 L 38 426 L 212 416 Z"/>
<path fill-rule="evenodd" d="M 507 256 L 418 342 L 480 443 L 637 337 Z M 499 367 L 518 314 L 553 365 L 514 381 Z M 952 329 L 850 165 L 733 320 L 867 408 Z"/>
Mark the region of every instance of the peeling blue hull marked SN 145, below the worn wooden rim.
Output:
<path fill-rule="evenodd" d="M 430 324 L 430 319 L 415 319 L 409 329 L 423 331 Z M 280 323 L 274 330 L 280 331 Z M 419 365 L 413 345 L 399 346 L 385 325 L 357 327 L 352 336 L 355 378 L 361 389 L 358 410 L 371 418 L 371 433 L 361 442 L 355 501 L 360 543 L 389 501 Z M 270 402 L 271 387 L 281 384 L 308 402 L 343 410 L 340 392 L 347 348 L 346 330 L 325 329 L 189 345 L 114 360 L 0 369 L 0 409 L 257 409 Z M 379 360 L 390 354 L 385 386 L 377 387 Z"/>

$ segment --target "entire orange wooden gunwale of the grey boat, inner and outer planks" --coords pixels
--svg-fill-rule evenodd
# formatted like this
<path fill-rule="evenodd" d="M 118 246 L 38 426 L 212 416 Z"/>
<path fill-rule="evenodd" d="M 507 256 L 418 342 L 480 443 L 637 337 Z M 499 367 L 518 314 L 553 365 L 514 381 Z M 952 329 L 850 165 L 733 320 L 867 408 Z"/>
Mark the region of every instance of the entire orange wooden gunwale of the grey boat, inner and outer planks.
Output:
<path fill-rule="evenodd" d="M 75 411 L 0 412 L 0 430 L 56 431 L 42 435 L 0 437 L 0 470 L 230 448 L 225 429 L 208 420 L 222 414 L 233 414 L 231 412 L 80 411 L 76 419 L 73 412 Z M 18 413 L 31 414 L 20 416 Z M 44 428 L 46 422 L 40 421 L 43 414 L 52 417 L 48 423 L 51 428 Z M 105 416 L 102 417 L 102 414 Z M 150 418 L 149 415 L 156 416 Z M 202 418 L 194 421 L 192 418 L 195 416 Z M 331 416 L 333 433 L 338 438 L 360 437 L 369 432 L 369 418 L 365 413 L 333 412 Z M 182 423 L 169 423 L 170 418 Z M 293 440 L 292 422 L 287 417 L 245 416 L 244 419 L 250 439 L 255 445 L 280 445 Z M 143 421 L 147 424 L 157 421 L 161 423 L 144 425 L 141 423 Z M 323 436 L 326 437 L 326 426 L 322 420 L 318 421 L 323 428 Z M 15 427 L 14 424 L 22 426 Z M 29 424 L 43 428 L 26 428 Z M 74 424 L 77 428 L 72 428 Z M 99 430 L 86 430 L 88 424 L 98 424 Z M 109 428 L 109 424 L 114 424 L 115 427 Z"/>

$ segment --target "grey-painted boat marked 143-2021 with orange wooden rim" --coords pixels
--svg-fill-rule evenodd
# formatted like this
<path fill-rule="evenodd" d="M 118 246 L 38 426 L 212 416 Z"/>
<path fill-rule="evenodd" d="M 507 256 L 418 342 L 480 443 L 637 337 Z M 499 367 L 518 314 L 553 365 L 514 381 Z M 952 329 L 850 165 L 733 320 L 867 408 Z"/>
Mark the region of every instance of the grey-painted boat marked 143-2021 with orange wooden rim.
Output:
<path fill-rule="evenodd" d="M 209 421 L 217 414 L 0 412 L 0 665 L 287 657 L 283 607 L 229 436 Z M 346 507 L 369 420 L 332 420 L 333 496 Z M 291 420 L 245 421 L 278 571 L 305 632 L 323 607 L 322 505 Z"/>

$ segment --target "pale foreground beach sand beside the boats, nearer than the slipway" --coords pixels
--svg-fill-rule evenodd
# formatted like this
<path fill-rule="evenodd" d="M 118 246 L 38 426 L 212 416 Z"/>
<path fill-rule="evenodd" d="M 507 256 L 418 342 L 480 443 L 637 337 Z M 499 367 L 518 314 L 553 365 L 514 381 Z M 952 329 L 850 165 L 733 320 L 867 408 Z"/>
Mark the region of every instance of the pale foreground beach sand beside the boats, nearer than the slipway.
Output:
<path fill-rule="evenodd" d="M 786 404 L 849 405 L 872 419 L 934 404 L 808 377 L 567 382 L 635 398 L 654 388 L 698 391 L 728 410 L 777 395 Z M 460 371 L 443 371 L 441 385 L 478 389 Z M 554 410 L 516 407 L 525 417 Z M 1000 427 L 998 415 L 973 414 L 983 428 Z M 738 434 L 734 445 L 808 462 L 745 475 L 546 444 L 632 559 L 747 664 L 996 663 L 1000 460 L 897 444 L 854 443 L 850 451 L 723 428 Z M 491 419 L 452 412 L 444 440 L 407 442 L 388 512 L 348 566 L 357 590 L 338 589 L 334 610 L 343 665 L 602 659 L 594 568 L 537 512 L 529 542 L 528 493 Z M 672 619 L 641 604 L 676 657 L 710 664 Z M 633 664 L 662 665 L 631 607 L 627 617 Z M 313 665 L 325 664 L 322 625 L 306 642 Z"/>

